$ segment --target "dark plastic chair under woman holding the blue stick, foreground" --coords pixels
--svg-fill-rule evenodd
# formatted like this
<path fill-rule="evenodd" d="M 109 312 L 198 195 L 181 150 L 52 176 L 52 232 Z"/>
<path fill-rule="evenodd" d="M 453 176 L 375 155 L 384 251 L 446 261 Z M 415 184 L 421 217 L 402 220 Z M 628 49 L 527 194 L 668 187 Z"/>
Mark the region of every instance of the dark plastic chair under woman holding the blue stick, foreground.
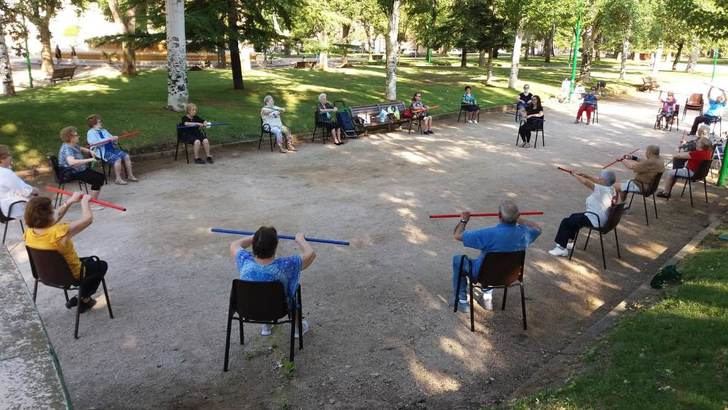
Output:
<path fill-rule="evenodd" d="M 289 360 L 294 358 L 295 332 L 298 326 L 298 349 L 303 349 L 303 307 L 301 303 L 301 286 L 288 304 L 286 292 L 281 282 L 250 282 L 233 279 L 230 289 L 230 305 L 228 307 L 227 335 L 225 338 L 225 365 L 228 371 L 230 356 L 230 331 L 233 320 L 240 322 L 240 344 L 245 344 L 243 323 L 261 323 L 276 325 L 291 324 L 291 352 Z M 288 316 L 286 320 L 280 320 Z"/>

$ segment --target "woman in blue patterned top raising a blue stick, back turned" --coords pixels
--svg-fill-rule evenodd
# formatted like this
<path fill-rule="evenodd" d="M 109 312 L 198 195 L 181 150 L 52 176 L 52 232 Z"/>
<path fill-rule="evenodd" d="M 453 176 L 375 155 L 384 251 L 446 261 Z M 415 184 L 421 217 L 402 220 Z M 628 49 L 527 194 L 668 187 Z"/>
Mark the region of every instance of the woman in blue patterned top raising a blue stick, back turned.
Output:
<path fill-rule="evenodd" d="M 272 226 L 261 226 L 253 236 L 238 239 L 230 244 L 230 255 L 240 273 L 240 280 L 252 282 L 281 282 L 286 295 L 291 299 L 296 294 L 301 271 L 311 266 L 316 258 L 311 245 L 302 233 L 296 234 L 296 244 L 301 248 L 300 255 L 276 258 L 278 232 Z M 246 250 L 253 247 L 251 254 Z M 289 305 L 290 306 L 290 305 Z M 308 330 L 308 322 L 303 321 L 303 332 Z M 271 334 L 271 325 L 262 325 L 260 334 Z"/>

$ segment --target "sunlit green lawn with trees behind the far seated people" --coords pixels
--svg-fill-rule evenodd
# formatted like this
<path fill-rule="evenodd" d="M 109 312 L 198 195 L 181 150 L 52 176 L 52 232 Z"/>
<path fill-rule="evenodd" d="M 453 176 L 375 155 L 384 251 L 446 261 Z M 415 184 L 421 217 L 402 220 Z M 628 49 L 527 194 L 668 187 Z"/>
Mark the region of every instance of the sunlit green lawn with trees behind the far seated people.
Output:
<path fill-rule="evenodd" d="M 437 57 L 445 65 L 428 65 L 422 58 L 403 58 L 398 68 L 398 97 L 409 101 L 415 91 L 422 90 L 429 105 L 440 105 L 438 113 L 456 112 L 462 88 L 473 85 L 481 106 L 511 103 L 516 92 L 507 88 L 510 60 L 503 56 L 494 64 L 495 81 L 485 87 L 485 73 L 472 56 L 467 68 L 459 67 L 458 57 Z M 449 65 L 448 65 L 449 64 Z M 632 90 L 646 70 L 645 65 L 630 66 L 627 81 L 616 83 L 618 66 L 614 60 L 594 64 L 593 78 L 606 79 L 613 93 Z M 531 58 L 523 63 L 520 80 L 532 84 L 542 97 L 557 95 L 564 77 L 569 75 L 565 58 L 545 64 Z M 666 75 L 679 76 L 681 73 Z M 705 74 L 707 75 L 707 74 Z M 142 135 L 123 143 L 132 153 L 153 151 L 174 145 L 175 124 L 181 114 L 164 109 L 167 98 L 165 70 L 143 72 L 134 78 L 114 77 L 78 80 L 55 87 L 21 92 L 12 98 L 0 98 L 0 143 L 9 144 L 15 155 L 16 168 L 43 163 L 47 153 L 58 150 L 61 128 L 73 125 L 84 135 L 85 117 L 92 113 L 104 117 L 112 133 L 139 129 Z M 319 93 L 329 100 L 345 100 L 349 105 L 383 101 L 383 65 L 355 66 L 330 72 L 276 69 L 256 70 L 245 75 L 245 90 L 233 90 L 228 70 L 206 70 L 189 73 L 190 100 L 200 107 L 200 115 L 208 120 L 227 122 L 227 127 L 209 130 L 213 143 L 257 139 L 260 131 L 259 110 L 263 97 L 272 94 L 276 103 L 288 111 L 284 121 L 294 133 L 310 131 L 313 110 Z M 546 100 L 546 98 L 544 98 Z M 85 138 L 82 138 L 84 142 Z"/>

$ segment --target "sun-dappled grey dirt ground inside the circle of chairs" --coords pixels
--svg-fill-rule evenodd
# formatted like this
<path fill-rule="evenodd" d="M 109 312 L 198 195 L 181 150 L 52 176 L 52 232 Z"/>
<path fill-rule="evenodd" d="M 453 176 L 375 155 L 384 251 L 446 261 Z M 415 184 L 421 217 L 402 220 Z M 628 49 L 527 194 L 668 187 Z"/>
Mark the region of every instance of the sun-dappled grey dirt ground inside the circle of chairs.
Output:
<path fill-rule="evenodd" d="M 620 226 L 622 260 L 614 237 L 605 238 L 606 271 L 596 241 L 572 262 L 548 255 L 559 221 L 583 210 L 588 194 L 555 165 L 597 172 L 634 148 L 657 143 L 670 152 L 679 140 L 652 130 L 652 102 L 604 101 L 600 109 L 600 124 L 587 127 L 572 124 L 575 106 L 548 107 L 546 147 L 538 149 L 516 148 L 512 116 L 493 114 L 480 125 L 437 123 L 430 136 L 305 144 L 285 156 L 225 151 L 212 166 L 143 164 L 143 182 L 102 194 L 129 211 L 98 213 L 76 241 L 80 254 L 109 262 L 117 318 L 108 319 L 100 298 L 74 340 L 63 296 L 39 292 L 74 404 L 471 408 L 502 400 L 651 275 L 707 224 L 708 213 L 728 207 L 725 190 L 711 186 L 709 206 L 699 195 L 694 209 L 686 199 L 660 200 L 660 219 L 648 228 L 638 203 Z M 494 210 L 506 197 L 546 213 L 538 219 L 544 233 L 527 255 L 529 329 L 522 330 L 518 298 L 511 297 L 505 311 L 476 308 L 471 333 L 468 317 L 447 303 L 451 257 L 463 251 L 451 237 L 456 221 L 427 216 Z M 264 338 L 257 326 L 246 327 L 245 346 L 233 342 L 231 370 L 223 373 L 233 238 L 208 230 L 261 224 L 352 246 L 315 247 L 318 258 L 302 280 L 312 330 L 292 374 L 278 368 L 286 329 Z M 22 246 L 13 251 L 29 279 Z M 284 242 L 279 254 L 293 251 Z M 497 292 L 494 304 L 500 300 Z"/>

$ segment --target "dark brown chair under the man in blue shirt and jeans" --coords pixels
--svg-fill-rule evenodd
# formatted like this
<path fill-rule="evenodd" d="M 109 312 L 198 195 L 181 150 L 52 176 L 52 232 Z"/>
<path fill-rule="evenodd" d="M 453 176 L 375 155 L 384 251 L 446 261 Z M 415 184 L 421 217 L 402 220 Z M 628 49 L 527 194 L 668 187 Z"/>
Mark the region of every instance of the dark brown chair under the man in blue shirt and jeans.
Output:
<path fill-rule="evenodd" d="M 473 266 L 470 259 L 463 255 L 460 260 L 460 275 L 458 276 L 457 289 L 460 289 L 461 280 L 465 277 L 468 281 L 470 290 L 470 331 L 475 331 L 475 313 L 473 304 L 473 287 L 478 286 L 483 291 L 488 289 L 503 289 L 503 305 L 501 310 L 506 310 L 506 297 L 508 296 L 508 288 L 518 286 L 521 289 L 521 312 L 523 314 L 523 330 L 526 330 L 526 295 L 523 285 L 523 267 L 526 260 L 526 251 L 516 252 L 489 252 L 485 255 L 483 264 L 478 272 L 478 280 L 473 283 L 470 280 L 469 272 L 472 272 Z M 465 272 L 463 267 L 468 262 L 469 268 Z M 455 301 L 455 312 L 458 311 L 458 303 Z"/>

